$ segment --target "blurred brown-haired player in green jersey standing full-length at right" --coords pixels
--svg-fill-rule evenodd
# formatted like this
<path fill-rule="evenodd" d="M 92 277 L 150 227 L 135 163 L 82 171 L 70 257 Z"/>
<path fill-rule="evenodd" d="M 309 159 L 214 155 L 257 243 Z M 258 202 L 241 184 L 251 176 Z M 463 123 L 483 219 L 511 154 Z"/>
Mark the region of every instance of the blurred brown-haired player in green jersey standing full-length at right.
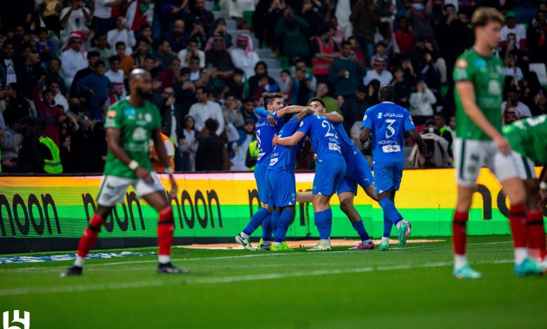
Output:
<path fill-rule="evenodd" d="M 513 233 L 515 274 L 540 274 L 526 248 L 526 191 L 507 139 L 501 134 L 499 109 L 503 101 L 504 62 L 492 50 L 497 48 L 504 15 L 482 7 L 475 10 L 471 25 L 475 45 L 461 55 L 454 66 L 456 134 L 454 160 L 458 200 L 454 212 L 454 277 L 478 279 L 481 274 L 469 266 L 466 256 L 466 223 L 480 168 L 485 165 L 497 176 L 511 201 L 509 222 Z"/>

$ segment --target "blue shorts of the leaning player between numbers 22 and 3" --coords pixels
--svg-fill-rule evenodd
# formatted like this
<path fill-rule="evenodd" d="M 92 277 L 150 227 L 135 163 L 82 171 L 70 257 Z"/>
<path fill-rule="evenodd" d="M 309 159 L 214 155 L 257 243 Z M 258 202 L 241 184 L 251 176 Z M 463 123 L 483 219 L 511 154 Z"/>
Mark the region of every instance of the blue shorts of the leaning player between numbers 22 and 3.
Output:
<path fill-rule="evenodd" d="M 340 181 L 336 193 L 353 192 L 357 195 L 357 186 L 363 190 L 374 183 L 374 177 L 370 172 L 370 166 L 362 154 L 358 154 L 346 165 L 346 176 Z"/>

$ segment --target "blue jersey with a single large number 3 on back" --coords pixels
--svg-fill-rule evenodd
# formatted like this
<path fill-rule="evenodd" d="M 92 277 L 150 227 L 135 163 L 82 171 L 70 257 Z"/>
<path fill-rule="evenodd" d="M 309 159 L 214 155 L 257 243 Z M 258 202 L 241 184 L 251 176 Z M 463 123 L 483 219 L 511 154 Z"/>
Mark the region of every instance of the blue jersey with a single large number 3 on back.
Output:
<path fill-rule="evenodd" d="M 372 160 L 375 163 L 405 160 L 405 132 L 416 128 L 407 109 L 391 102 L 374 105 L 365 112 L 362 127 L 370 129 Z"/>

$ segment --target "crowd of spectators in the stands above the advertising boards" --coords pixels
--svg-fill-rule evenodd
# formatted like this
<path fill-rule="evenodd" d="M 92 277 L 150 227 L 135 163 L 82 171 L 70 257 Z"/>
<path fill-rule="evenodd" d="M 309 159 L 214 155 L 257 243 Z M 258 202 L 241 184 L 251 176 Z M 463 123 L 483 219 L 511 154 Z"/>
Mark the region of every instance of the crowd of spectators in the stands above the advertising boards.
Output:
<path fill-rule="evenodd" d="M 384 83 L 395 87 L 396 104 L 410 109 L 431 143 L 427 155 L 412 150 L 412 166 L 450 166 L 457 124 L 452 71 L 473 45 L 469 20 L 478 6 L 506 16 L 495 54 L 506 65 L 504 123 L 547 113 L 540 83 L 547 62 L 546 0 L 219 5 L 239 29 L 250 27 L 260 45 L 252 34 L 228 34 L 227 21 L 215 19 L 204 0 L 2 1 L 2 172 L 102 172 L 107 108 L 126 96 L 128 74 L 137 67 L 153 78 L 150 100 L 160 110 L 177 171 L 252 169 L 253 111 L 269 92 L 299 105 L 322 99 L 328 111 L 344 116 L 361 148 L 363 113 L 379 103 Z M 248 10 L 252 17 L 244 15 Z M 269 75 L 256 49 L 261 46 L 283 61 L 280 76 Z"/>

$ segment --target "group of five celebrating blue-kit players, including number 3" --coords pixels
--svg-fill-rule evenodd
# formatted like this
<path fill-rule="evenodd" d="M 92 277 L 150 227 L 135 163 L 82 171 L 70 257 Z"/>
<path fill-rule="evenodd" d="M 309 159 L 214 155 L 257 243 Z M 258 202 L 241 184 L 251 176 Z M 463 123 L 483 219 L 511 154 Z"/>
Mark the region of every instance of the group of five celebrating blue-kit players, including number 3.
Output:
<path fill-rule="evenodd" d="M 260 117 L 255 125 L 259 147 L 255 179 L 263 207 L 236 236 L 238 244 L 251 251 L 290 250 L 285 235 L 295 218 L 295 162 L 299 156 L 314 154 L 317 165 L 311 202 L 320 242 L 307 250 L 329 251 L 331 248 L 330 198 L 334 194 L 338 195 L 340 208 L 361 239 L 361 243 L 351 249 L 374 248 L 353 205 L 357 186 L 379 202 L 384 211 L 384 234 L 379 249 L 389 250 L 392 225 L 398 230 L 398 245 L 405 246 L 411 225 L 400 216 L 394 204 L 403 176 L 405 132 L 409 132 L 421 148 L 426 146 L 415 130 L 410 112 L 393 104 L 393 96 L 393 87 L 382 85 L 379 90 L 381 103 L 367 109 L 363 116 L 360 141 L 365 143 L 370 138 L 372 143 L 373 177 L 365 156 L 344 130 L 344 118 L 335 112 L 325 113 L 325 104 L 320 99 L 312 99 L 309 107 L 284 106 L 282 94 L 266 95 L 264 109 L 255 110 Z M 309 143 L 305 142 L 307 140 Z M 255 249 L 250 244 L 250 235 L 260 225 L 262 239 Z"/>

